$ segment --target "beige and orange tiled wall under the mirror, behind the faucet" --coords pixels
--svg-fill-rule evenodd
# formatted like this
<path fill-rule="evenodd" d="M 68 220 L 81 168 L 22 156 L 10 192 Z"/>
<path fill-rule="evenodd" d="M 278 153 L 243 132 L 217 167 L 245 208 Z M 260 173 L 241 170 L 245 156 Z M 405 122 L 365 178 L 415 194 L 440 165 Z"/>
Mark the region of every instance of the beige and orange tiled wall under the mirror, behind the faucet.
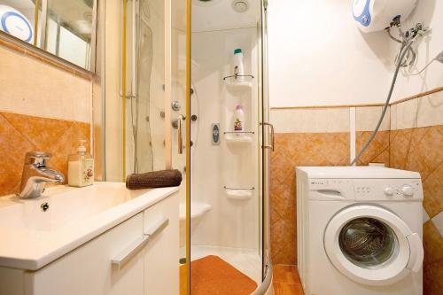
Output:
<path fill-rule="evenodd" d="M 51 152 L 49 166 L 66 175 L 67 155 L 90 142 L 92 81 L 0 42 L 0 196 L 15 193 L 27 151 Z"/>

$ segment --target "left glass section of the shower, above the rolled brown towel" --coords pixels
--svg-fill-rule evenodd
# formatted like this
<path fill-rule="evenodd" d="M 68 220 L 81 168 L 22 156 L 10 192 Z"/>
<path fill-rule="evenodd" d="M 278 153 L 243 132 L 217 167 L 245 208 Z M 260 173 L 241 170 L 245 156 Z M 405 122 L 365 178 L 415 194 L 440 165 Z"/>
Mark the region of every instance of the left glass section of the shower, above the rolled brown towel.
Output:
<path fill-rule="evenodd" d="M 166 167 L 166 15 L 163 0 L 105 5 L 106 181 Z"/>

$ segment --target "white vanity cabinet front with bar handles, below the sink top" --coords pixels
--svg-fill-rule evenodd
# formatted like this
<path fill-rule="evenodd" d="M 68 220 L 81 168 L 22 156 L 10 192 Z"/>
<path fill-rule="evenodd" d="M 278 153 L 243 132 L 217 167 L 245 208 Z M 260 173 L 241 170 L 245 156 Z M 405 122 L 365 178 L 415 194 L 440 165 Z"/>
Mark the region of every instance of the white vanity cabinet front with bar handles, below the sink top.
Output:
<path fill-rule="evenodd" d="M 178 295 L 178 210 L 175 192 L 43 268 L 11 269 L 18 291 L 0 268 L 0 295 Z"/>

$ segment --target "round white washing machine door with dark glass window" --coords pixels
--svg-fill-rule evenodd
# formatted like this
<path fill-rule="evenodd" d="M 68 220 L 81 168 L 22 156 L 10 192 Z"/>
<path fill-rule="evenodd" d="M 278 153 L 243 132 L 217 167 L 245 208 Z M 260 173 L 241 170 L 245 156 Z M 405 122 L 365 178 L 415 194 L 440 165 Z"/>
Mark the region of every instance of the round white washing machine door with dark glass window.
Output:
<path fill-rule="evenodd" d="M 352 206 L 338 212 L 324 232 L 324 249 L 343 275 L 358 283 L 395 283 L 419 271 L 420 236 L 394 213 L 378 206 Z"/>

